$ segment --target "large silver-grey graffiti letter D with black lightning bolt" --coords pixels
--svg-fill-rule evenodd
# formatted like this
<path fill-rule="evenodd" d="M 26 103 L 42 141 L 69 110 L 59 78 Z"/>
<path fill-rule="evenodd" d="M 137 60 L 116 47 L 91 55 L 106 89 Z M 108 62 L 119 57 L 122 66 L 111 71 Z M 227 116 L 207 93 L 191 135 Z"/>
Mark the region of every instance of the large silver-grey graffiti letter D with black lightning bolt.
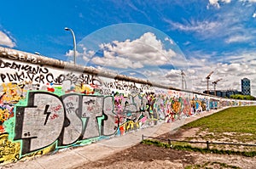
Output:
<path fill-rule="evenodd" d="M 29 93 L 27 106 L 16 107 L 15 140 L 22 139 L 22 154 L 53 144 L 65 118 L 61 100 L 53 94 Z"/>

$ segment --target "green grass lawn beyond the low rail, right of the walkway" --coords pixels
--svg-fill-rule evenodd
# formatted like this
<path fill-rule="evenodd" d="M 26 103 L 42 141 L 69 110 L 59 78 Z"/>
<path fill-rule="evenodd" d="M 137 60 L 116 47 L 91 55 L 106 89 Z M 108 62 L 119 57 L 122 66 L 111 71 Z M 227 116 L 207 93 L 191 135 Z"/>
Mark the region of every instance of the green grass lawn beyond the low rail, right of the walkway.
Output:
<path fill-rule="evenodd" d="M 256 140 L 256 106 L 232 107 L 218 113 L 203 117 L 183 126 L 200 127 L 201 131 L 219 134 L 233 132 L 232 137 L 238 141 Z"/>

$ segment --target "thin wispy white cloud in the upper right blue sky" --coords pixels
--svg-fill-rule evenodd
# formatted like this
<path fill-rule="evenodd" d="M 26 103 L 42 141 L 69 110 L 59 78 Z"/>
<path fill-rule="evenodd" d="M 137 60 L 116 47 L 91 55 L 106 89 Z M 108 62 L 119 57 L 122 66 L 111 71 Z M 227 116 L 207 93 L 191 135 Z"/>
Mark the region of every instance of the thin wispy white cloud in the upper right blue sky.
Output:
<path fill-rule="evenodd" d="M 253 12 L 255 8 L 252 5 L 243 6 L 241 2 L 236 1 L 227 8 L 218 9 L 218 13 L 214 12 L 203 20 L 191 16 L 179 22 L 168 19 L 165 21 L 170 25 L 171 30 L 191 33 L 191 36 L 201 41 L 211 43 L 212 40 L 218 40 L 220 43 L 249 42 L 252 44 L 255 42 L 253 38 L 255 31 L 253 26 L 248 27 L 247 23 L 252 22 Z"/>

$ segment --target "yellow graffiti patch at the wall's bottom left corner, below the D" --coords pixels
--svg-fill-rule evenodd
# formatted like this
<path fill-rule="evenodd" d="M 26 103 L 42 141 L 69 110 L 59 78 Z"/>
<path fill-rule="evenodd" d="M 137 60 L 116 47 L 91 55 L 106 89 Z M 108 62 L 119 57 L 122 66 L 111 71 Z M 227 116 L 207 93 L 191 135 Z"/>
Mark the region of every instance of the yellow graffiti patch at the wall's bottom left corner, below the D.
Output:
<path fill-rule="evenodd" d="M 8 133 L 0 135 L 0 162 L 9 163 L 20 158 L 20 143 L 12 143 L 8 139 Z"/>

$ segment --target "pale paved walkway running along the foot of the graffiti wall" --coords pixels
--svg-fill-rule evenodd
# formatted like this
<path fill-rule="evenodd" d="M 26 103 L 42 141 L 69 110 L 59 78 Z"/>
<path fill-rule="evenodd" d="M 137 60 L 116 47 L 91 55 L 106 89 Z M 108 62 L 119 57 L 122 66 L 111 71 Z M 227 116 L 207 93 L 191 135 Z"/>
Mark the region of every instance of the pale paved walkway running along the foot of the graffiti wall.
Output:
<path fill-rule="evenodd" d="M 157 137 L 166 132 L 173 132 L 178 127 L 190 121 L 195 121 L 203 116 L 212 115 L 217 110 L 204 112 L 201 115 L 193 115 L 189 118 L 178 120 L 171 123 L 162 123 L 154 127 L 147 127 L 137 132 L 128 132 L 123 136 L 105 139 L 95 144 L 85 145 L 74 149 L 60 150 L 53 155 L 43 155 L 34 157 L 26 161 L 17 161 L 5 166 L 2 169 L 70 169 L 81 166 L 86 162 L 97 161 L 108 155 L 113 155 L 122 149 L 129 148 L 142 141 L 142 135 Z"/>

